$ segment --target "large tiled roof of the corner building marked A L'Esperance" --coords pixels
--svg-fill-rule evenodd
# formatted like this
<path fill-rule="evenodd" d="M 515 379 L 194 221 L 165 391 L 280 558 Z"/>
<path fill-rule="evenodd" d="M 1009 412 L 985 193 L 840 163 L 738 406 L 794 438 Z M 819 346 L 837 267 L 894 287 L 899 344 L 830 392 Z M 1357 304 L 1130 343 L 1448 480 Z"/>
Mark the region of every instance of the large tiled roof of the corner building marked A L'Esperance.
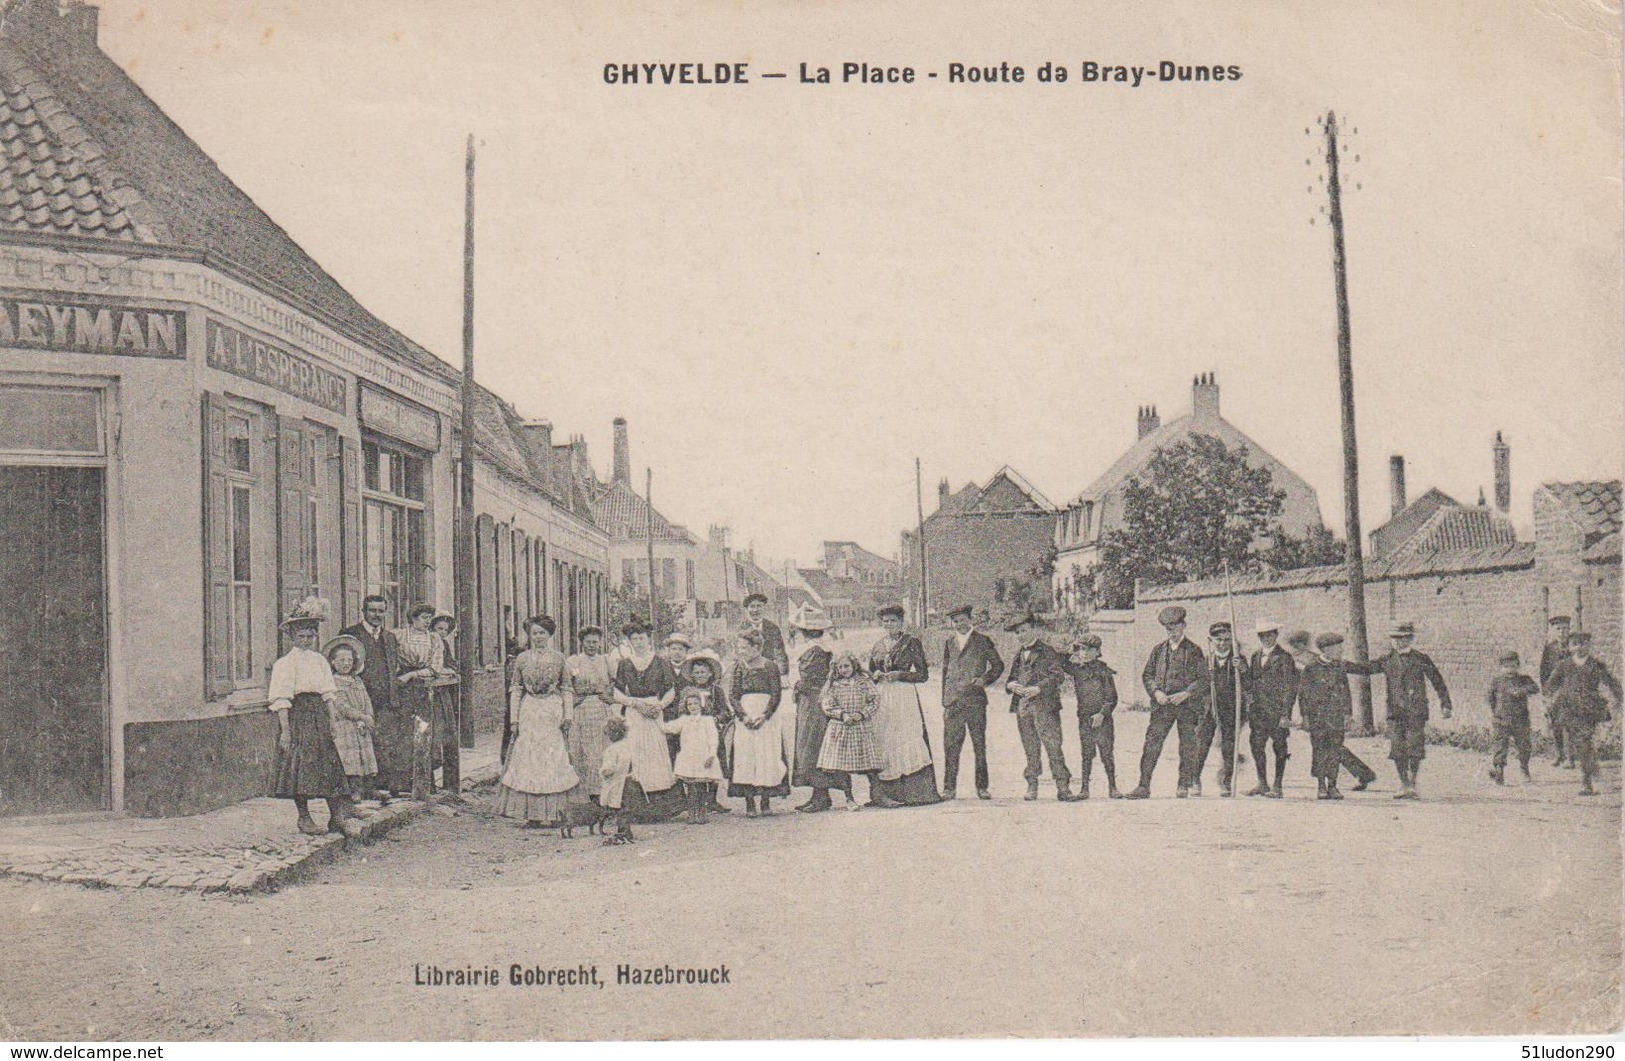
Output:
<path fill-rule="evenodd" d="M 374 317 L 317 265 L 96 47 L 81 23 L 57 15 L 54 0 L 21 0 L 5 10 L 0 94 L 10 112 L 0 122 L 3 177 L 16 193 L 8 206 L 0 192 L 0 234 L 101 236 L 198 250 L 377 353 L 457 380 L 447 362 Z"/>

